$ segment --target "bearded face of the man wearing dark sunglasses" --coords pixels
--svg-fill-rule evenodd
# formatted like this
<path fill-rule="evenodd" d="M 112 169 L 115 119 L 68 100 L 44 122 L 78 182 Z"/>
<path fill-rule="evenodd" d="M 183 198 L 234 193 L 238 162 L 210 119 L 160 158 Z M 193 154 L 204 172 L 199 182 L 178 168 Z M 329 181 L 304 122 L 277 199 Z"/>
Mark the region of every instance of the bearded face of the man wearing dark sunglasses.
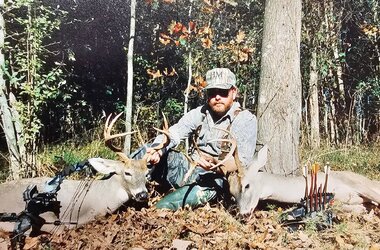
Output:
<path fill-rule="evenodd" d="M 222 117 L 231 108 L 236 94 L 237 91 L 234 87 L 230 89 L 208 89 L 207 103 L 215 115 Z"/>

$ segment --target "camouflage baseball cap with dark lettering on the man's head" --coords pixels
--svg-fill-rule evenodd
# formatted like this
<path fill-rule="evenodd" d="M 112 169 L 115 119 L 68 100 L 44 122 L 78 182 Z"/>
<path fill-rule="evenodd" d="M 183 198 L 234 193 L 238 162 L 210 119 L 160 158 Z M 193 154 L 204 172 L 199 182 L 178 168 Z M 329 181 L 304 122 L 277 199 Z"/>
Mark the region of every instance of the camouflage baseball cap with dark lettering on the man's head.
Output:
<path fill-rule="evenodd" d="M 215 68 L 206 73 L 205 89 L 230 89 L 236 86 L 236 77 L 227 68 Z"/>

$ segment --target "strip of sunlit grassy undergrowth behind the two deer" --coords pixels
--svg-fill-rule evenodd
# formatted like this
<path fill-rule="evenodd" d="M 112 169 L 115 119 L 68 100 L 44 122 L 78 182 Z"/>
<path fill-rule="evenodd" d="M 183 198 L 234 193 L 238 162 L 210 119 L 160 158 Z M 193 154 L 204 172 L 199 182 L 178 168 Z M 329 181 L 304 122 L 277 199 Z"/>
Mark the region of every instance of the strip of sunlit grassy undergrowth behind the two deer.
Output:
<path fill-rule="evenodd" d="M 141 138 L 141 134 L 136 135 L 133 149 L 139 147 L 137 144 L 141 143 Z M 122 145 L 121 142 L 116 144 Z M 325 164 L 329 164 L 332 170 L 350 170 L 372 179 L 380 179 L 380 145 L 344 148 L 322 146 L 317 151 L 300 148 L 300 152 L 301 166 L 310 166 L 318 162 L 322 169 Z M 85 136 L 60 144 L 45 146 L 37 155 L 37 175 L 51 176 L 65 166 L 91 157 L 117 158 L 116 154 L 105 146 L 101 129 L 88 131 Z M 0 168 L 0 180 L 5 180 L 7 176 L 7 167 L 3 165 Z"/>

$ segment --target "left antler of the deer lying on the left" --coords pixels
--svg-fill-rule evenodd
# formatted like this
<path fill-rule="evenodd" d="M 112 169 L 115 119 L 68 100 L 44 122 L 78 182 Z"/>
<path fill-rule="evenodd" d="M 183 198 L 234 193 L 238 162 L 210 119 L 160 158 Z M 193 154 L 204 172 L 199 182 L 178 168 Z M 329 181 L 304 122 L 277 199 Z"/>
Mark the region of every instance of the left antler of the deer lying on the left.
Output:
<path fill-rule="evenodd" d="M 124 132 L 124 133 L 119 133 L 119 134 L 111 135 L 111 131 L 112 131 L 113 125 L 116 123 L 117 119 L 119 119 L 119 117 L 122 114 L 123 114 L 123 112 L 121 112 L 120 114 L 118 114 L 117 116 L 115 116 L 115 118 L 113 118 L 112 120 L 111 120 L 112 114 L 110 114 L 107 117 L 106 124 L 104 126 L 104 140 L 105 140 L 106 146 L 109 149 L 111 149 L 112 151 L 114 151 L 121 158 L 122 161 L 129 162 L 130 159 L 123 152 L 123 150 L 121 148 L 119 148 L 119 147 L 117 147 L 117 146 L 115 146 L 115 145 L 112 144 L 112 139 L 115 139 L 117 137 L 122 137 L 122 136 L 130 135 L 130 134 L 134 133 L 134 131 L 132 131 L 132 132 Z M 111 120 L 111 122 L 110 122 L 110 120 Z"/>

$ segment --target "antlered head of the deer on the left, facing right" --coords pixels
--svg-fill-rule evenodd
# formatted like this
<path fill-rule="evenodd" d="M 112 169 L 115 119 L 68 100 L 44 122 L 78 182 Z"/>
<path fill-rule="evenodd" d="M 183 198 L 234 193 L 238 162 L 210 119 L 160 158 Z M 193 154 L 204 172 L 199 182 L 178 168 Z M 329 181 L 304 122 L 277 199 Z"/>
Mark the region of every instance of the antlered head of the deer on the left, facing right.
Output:
<path fill-rule="evenodd" d="M 111 134 L 112 128 L 117 119 L 122 115 L 118 114 L 111 120 L 111 115 L 108 116 L 104 127 L 104 140 L 108 148 L 114 151 L 119 156 L 119 161 L 108 160 L 102 158 L 89 159 L 90 164 L 100 173 L 103 174 L 116 174 L 122 182 L 125 190 L 136 201 L 146 201 L 148 199 L 148 190 L 146 188 L 148 167 L 147 161 L 149 161 L 150 154 L 145 154 L 142 159 L 130 159 L 120 147 L 115 146 L 112 140 L 118 137 L 124 137 L 134 132 L 125 132 L 119 134 Z M 154 147 L 154 151 L 158 151 L 167 146 L 170 142 L 168 123 L 164 116 L 163 130 L 155 128 L 155 130 L 162 132 L 165 137 L 162 143 Z M 151 152 L 151 154 L 153 153 Z"/>

